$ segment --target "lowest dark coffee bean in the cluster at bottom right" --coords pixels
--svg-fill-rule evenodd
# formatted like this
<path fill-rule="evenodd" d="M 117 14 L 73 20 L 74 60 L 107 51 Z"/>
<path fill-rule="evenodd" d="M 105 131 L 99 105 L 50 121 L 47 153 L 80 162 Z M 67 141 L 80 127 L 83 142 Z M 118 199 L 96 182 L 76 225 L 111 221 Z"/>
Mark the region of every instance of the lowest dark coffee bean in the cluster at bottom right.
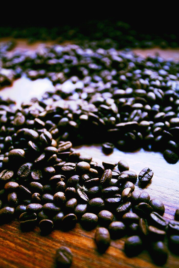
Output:
<path fill-rule="evenodd" d="M 152 260 L 157 265 L 164 265 L 166 263 L 168 252 L 165 244 L 162 241 L 152 243 L 149 252 L 151 254 Z"/>

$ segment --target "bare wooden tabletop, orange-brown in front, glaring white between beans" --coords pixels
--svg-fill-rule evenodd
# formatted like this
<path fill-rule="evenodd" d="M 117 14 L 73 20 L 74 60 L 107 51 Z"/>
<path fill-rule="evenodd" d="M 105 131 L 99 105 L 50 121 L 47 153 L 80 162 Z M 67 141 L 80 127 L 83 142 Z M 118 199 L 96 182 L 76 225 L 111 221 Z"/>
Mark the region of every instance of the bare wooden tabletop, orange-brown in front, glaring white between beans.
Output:
<path fill-rule="evenodd" d="M 145 54 L 143 50 L 140 51 L 141 54 Z M 171 51 L 169 57 L 171 57 Z M 17 83 L 20 83 L 24 89 L 24 83 L 25 87 L 28 87 L 30 85 L 28 83 L 37 82 L 27 79 L 23 82 L 22 79 L 17 80 L 14 83 L 15 87 L 2 90 L 0 95 L 6 96 L 6 92 L 8 92 L 10 97 L 17 96 L 17 91 L 21 88 L 21 86 L 17 86 Z M 36 86 L 34 86 L 35 88 Z M 45 89 L 43 88 L 43 90 Z M 12 92 L 13 94 L 11 94 Z M 25 99 L 31 98 L 33 92 L 29 94 L 30 96 L 26 94 Z M 18 100 L 23 99 L 24 95 L 21 93 Z M 100 145 L 80 146 L 78 149 L 92 155 L 93 160 L 98 163 L 126 160 L 130 170 L 136 171 L 137 174 L 145 167 L 151 168 L 154 176 L 146 187 L 147 191 L 151 199 L 159 198 L 164 203 L 164 217 L 167 220 L 174 218 L 174 212 L 179 208 L 179 163 L 169 164 L 160 153 L 146 152 L 143 149 L 133 153 L 115 149 L 109 156 L 103 154 Z M 139 189 L 137 184 L 135 189 Z M 143 251 L 137 257 L 128 258 L 123 252 L 124 241 L 125 239 L 112 240 L 111 246 L 101 255 L 94 243 L 94 230 L 87 232 L 79 224 L 69 232 L 54 230 L 48 236 L 41 236 L 38 227 L 32 232 L 23 233 L 19 228 L 19 223 L 13 221 L 11 224 L 0 225 L 0 267 L 55 267 L 54 256 L 60 246 L 67 246 L 71 249 L 73 253 L 71 267 L 157 267 L 153 264 L 147 251 Z M 179 267 L 179 257 L 169 251 L 169 258 L 164 267 Z"/>

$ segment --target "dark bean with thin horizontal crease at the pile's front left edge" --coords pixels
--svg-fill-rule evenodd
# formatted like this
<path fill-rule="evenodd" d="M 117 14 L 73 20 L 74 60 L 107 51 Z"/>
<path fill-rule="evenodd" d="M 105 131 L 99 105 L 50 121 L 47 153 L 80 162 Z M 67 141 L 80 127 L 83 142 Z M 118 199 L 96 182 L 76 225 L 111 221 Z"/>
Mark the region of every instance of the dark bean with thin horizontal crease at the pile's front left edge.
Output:
<path fill-rule="evenodd" d="M 24 212 L 19 216 L 20 228 L 23 231 L 29 231 L 33 229 L 37 222 L 36 213 Z"/>

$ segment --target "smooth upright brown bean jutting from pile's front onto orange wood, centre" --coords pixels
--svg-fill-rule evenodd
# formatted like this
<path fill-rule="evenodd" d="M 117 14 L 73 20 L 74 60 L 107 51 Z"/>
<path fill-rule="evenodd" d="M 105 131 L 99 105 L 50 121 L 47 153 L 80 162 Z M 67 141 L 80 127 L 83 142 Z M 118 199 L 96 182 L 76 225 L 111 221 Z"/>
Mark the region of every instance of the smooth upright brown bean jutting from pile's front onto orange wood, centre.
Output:
<path fill-rule="evenodd" d="M 104 227 L 96 228 L 95 241 L 98 251 L 105 252 L 111 243 L 108 229 Z"/>

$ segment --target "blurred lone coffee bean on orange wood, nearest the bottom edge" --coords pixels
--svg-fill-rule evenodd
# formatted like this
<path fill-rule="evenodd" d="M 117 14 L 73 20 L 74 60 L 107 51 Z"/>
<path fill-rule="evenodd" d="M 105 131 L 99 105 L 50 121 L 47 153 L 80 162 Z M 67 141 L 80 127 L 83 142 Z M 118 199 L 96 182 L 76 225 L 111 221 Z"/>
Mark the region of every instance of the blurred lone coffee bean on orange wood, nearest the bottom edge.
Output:
<path fill-rule="evenodd" d="M 72 263 L 73 255 L 69 248 L 60 247 L 56 251 L 55 258 L 56 258 L 57 267 L 70 267 Z"/>

